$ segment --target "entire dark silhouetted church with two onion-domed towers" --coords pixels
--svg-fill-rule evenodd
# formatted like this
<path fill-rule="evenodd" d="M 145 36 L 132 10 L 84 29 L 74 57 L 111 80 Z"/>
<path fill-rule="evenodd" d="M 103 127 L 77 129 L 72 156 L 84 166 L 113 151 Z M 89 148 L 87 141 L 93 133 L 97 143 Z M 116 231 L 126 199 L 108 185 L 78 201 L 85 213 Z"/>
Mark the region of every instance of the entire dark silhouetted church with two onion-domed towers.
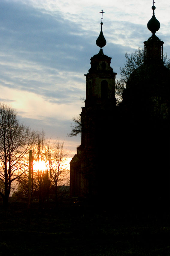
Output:
<path fill-rule="evenodd" d="M 168 205 L 170 71 L 163 64 L 164 42 L 155 35 L 160 28 L 155 6 L 152 10 L 144 64 L 130 75 L 119 105 L 116 73 L 102 49 L 106 40 L 101 22 L 96 40 L 100 51 L 85 75 L 81 145 L 70 162 L 71 197 L 152 208 Z"/>

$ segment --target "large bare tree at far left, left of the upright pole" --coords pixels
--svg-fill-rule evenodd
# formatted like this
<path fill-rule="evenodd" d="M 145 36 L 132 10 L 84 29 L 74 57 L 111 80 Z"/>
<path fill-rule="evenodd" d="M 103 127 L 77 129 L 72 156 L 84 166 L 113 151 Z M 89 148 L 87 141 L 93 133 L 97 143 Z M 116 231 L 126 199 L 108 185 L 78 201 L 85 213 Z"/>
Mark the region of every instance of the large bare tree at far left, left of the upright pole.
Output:
<path fill-rule="evenodd" d="M 4 206 L 13 188 L 12 184 L 28 169 L 28 150 L 34 133 L 19 123 L 16 111 L 0 103 L 0 179 L 4 184 L 0 195 Z"/>

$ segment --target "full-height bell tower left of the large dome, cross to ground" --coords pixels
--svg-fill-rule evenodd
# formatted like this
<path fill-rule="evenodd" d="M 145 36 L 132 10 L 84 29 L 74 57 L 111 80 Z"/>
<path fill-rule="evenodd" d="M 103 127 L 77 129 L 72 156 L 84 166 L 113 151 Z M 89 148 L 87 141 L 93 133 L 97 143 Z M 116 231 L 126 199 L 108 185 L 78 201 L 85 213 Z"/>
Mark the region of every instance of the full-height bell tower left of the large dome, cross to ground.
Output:
<path fill-rule="evenodd" d="M 103 20 L 103 10 L 101 13 L 101 20 Z M 108 156 L 106 148 L 109 148 L 110 134 L 113 132 L 117 73 L 114 73 L 110 66 L 112 58 L 103 53 L 102 48 L 106 45 L 106 39 L 102 31 L 103 22 L 100 24 L 101 30 L 96 40 L 100 51 L 90 59 L 91 67 L 85 75 L 86 99 L 81 113 L 81 145 L 70 162 L 71 196 L 81 195 L 81 193 L 82 195 L 98 194 L 102 177 L 100 172 L 106 168 L 104 155 L 107 152 Z M 77 182 L 76 179 L 79 181 Z M 76 186 L 77 189 L 75 189 Z"/>

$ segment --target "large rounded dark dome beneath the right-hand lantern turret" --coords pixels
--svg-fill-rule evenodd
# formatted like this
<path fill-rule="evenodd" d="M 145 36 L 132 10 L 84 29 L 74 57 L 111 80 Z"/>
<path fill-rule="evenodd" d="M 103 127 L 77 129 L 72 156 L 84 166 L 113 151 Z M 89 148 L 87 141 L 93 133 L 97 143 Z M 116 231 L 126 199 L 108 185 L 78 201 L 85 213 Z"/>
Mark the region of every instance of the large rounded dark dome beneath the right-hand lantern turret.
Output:
<path fill-rule="evenodd" d="M 169 81 L 170 70 L 163 64 L 143 64 L 130 75 L 122 104 L 130 113 L 139 114 L 139 118 L 142 114 L 148 118 L 159 115 L 159 118 L 167 119 Z"/>

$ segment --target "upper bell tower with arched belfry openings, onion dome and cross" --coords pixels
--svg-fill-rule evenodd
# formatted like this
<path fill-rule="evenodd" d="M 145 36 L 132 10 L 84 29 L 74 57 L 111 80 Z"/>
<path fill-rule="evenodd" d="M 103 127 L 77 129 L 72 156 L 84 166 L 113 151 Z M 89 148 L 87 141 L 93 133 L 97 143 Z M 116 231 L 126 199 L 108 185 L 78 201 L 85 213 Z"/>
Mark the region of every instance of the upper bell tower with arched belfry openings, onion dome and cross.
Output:
<path fill-rule="evenodd" d="M 103 10 L 101 11 L 103 20 Z M 97 46 L 100 47 L 98 54 L 94 55 L 91 60 L 91 68 L 86 76 L 86 101 L 85 107 L 89 107 L 105 101 L 115 100 L 115 75 L 112 67 L 110 67 L 111 59 L 104 55 L 102 47 L 106 45 L 106 39 L 103 36 L 102 25 L 100 35 L 96 40 Z"/>

